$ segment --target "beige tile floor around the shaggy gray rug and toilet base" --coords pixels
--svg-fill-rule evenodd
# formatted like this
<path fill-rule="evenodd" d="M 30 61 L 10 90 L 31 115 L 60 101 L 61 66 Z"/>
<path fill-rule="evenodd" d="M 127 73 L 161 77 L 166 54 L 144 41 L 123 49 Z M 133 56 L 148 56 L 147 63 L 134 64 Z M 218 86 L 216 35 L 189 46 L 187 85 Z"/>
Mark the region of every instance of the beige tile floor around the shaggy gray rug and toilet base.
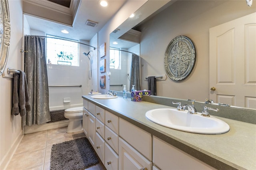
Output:
<path fill-rule="evenodd" d="M 84 137 L 84 133 L 66 133 L 65 128 L 25 134 L 6 170 L 50 170 L 53 144 Z M 86 170 L 105 170 L 102 162 Z"/>

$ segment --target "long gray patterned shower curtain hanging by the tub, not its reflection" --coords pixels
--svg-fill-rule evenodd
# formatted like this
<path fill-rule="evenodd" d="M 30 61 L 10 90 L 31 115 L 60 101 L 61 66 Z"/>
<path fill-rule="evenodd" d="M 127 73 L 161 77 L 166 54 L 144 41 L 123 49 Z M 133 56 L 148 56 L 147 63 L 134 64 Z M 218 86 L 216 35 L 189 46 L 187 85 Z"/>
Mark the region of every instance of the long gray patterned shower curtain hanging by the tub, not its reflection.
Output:
<path fill-rule="evenodd" d="M 45 38 L 25 36 L 25 73 L 31 111 L 22 117 L 22 126 L 49 122 L 49 90 Z"/>

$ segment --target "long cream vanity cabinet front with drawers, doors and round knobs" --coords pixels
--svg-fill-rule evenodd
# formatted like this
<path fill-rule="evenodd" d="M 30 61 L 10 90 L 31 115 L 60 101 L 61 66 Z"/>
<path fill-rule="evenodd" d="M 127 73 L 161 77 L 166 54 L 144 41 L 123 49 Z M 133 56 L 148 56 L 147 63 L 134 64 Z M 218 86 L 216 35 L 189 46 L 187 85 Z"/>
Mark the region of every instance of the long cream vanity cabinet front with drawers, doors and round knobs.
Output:
<path fill-rule="evenodd" d="M 85 105 L 84 133 L 107 170 L 215 170 L 92 102 Z"/>

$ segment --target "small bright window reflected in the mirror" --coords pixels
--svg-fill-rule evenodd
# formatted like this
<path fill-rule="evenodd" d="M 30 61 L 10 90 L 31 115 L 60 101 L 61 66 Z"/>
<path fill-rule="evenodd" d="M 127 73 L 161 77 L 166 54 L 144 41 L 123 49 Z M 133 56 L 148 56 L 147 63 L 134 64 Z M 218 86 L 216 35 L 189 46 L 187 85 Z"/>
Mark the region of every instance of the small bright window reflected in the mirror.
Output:
<path fill-rule="evenodd" d="M 121 59 L 120 59 L 120 51 L 114 50 L 118 48 L 110 48 L 110 55 L 109 55 L 109 61 L 110 61 L 110 69 L 121 69 Z"/>

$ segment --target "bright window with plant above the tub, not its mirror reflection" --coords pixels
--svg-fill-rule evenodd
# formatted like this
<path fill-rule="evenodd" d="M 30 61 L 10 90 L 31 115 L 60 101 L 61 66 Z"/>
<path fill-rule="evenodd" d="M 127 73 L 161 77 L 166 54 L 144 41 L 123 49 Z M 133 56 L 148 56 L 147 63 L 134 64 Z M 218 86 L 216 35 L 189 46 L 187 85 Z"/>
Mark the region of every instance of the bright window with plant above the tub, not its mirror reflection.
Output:
<path fill-rule="evenodd" d="M 46 38 L 47 63 L 79 66 L 77 40 L 72 40 L 74 42 L 71 42 L 68 39 L 56 36 L 47 35 L 47 37 L 49 37 Z"/>

